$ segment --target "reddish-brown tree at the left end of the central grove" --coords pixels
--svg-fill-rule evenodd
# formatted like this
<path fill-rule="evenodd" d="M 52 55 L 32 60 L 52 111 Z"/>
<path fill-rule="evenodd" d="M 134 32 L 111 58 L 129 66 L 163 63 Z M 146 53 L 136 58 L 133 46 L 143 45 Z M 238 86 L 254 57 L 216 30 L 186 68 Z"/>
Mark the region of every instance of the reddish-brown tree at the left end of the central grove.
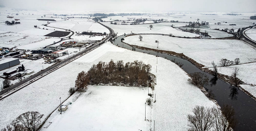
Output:
<path fill-rule="evenodd" d="M 87 76 L 87 73 L 84 71 L 80 72 L 76 78 L 75 87 L 77 89 L 81 88 L 81 89 L 87 90 L 88 84 L 89 84 L 89 78 Z"/>

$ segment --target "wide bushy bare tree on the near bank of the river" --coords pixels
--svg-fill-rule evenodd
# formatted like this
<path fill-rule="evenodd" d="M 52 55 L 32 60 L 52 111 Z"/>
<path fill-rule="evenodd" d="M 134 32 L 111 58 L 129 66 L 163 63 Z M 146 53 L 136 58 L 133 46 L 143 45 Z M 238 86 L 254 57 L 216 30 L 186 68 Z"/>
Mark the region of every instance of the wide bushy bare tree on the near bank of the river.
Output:
<path fill-rule="evenodd" d="M 189 82 L 196 86 L 204 86 L 208 84 L 209 78 L 206 74 L 201 73 L 201 72 L 195 72 L 190 74 L 191 78 L 188 79 Z"/>

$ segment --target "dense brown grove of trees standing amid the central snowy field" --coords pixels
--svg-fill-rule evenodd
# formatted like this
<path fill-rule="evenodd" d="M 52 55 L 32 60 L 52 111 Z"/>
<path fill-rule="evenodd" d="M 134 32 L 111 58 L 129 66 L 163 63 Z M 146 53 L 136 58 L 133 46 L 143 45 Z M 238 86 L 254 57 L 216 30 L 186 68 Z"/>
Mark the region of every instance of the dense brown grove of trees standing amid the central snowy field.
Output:
<path fill-rule="evenodd" d="M 82 71 L 78 74 L 75 87 L 86 89 L 88 84 L 99 83 L 124 83 L 129 86 L 147 87 L 151 80 L 149 74 L 151 68 L 150 64 L 144 64 L 138 60 L 125 64 L 123 60 L 118 60 L 116 63 L 113 60 L 109 63 L 99 61 L 87 73 Z"/>

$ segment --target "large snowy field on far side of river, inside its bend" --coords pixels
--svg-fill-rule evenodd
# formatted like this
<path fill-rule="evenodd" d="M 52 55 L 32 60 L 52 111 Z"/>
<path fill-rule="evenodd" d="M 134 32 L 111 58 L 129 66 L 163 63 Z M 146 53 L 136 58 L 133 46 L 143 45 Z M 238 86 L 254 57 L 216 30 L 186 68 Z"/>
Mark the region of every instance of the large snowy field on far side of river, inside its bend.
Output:
<path fill-rule="evenodd" d="M 124 42 L 132 45 L 157 49 L 159 41 L 160 50 L 184 53 L 200 64 L 211 67 L 211 62 L 215 61 L 219 65 L 219 60 L 225 58 L 233 60 L 240 58 L 241 63 L 256 61 L 256 51 L 240 40 L 214 40 L 214 39 L 184 39 L 162 35 L 142 35 L 128 36 Z"/>

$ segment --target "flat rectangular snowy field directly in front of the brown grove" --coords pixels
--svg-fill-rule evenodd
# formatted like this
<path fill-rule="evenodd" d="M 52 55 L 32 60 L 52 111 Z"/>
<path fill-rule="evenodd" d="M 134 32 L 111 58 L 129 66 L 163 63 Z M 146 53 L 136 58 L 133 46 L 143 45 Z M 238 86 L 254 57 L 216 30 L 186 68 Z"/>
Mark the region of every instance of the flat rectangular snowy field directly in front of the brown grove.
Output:
<path fill-rule="evenodd" d="M 41 131 L 146 131 L 149 125 L 144 120 L 144 103 L 149 98 L 147 94 L 147 88 L 89 86 L 87 92 L 75 102 L 72 102 L 72 98 L 78 94 L 72 95 L 65 102 L 72 102 L 65 113 L 60 114 L 55 110 L 46 121 L 46 124 L 52 124 Z M 147 119 L 150 119 L 150 111 L 151 108 L 147 105 Z"/>

